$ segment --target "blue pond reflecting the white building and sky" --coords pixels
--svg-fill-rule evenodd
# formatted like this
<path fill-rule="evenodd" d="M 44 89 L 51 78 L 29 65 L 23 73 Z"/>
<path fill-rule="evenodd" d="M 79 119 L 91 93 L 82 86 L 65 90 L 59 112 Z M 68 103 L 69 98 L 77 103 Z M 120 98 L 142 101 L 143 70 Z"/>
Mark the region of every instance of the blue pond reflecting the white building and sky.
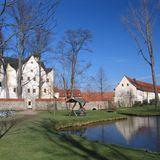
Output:
<path fill-rule="evenodd" d="M 133 117 L 126 120 L 63 131 L 93 141 L 119 144 L 160 152 L 160 116 Z"/>

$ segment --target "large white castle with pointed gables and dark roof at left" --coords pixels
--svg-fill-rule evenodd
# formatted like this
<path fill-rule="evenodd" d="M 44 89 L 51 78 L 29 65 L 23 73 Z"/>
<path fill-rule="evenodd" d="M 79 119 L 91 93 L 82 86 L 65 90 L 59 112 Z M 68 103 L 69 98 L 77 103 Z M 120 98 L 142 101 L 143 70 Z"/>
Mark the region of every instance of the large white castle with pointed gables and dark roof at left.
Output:
<path fill-rule="evenodd" d="M 39 96 L 39 70 L 41 70 L 41 98 L 53 98 L 54 71 L 46 68 L 41 62 L 41 69 L 38 63 L 38 56 L 32 55 L 23 61 L 22 66 L 22 98 L 36 99 Z M 0 98 L 17 98 L 17 70 L 18 59 L 3 57 L 7 72 L 6 91 L 4 80 L 4 68 L 0 66 Z"/>

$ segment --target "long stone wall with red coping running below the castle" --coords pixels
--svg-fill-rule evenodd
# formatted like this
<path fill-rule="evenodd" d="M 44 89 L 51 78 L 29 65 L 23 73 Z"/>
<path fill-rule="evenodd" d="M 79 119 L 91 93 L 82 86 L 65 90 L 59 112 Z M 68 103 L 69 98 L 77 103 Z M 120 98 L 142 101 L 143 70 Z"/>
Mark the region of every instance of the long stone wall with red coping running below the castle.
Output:
<path fill-rule="evenodd" d="M 0 99 L 0 110 L 26 110 L 28 101 L 24 99 Z M 64 100 L 55 101 L 54 99 L 36 99 L 32 100 L 33 110 L 66 110 L 71 109 L 74 103 L 65 103 Z M 87 102 L 85 105 L 86 110 L 98 110 L 98 109 L 108 109 L 113 106 L 110 105 L 108 101 L 93 101 Z M 74 108 L 79 109 L 79 104 Z"/>

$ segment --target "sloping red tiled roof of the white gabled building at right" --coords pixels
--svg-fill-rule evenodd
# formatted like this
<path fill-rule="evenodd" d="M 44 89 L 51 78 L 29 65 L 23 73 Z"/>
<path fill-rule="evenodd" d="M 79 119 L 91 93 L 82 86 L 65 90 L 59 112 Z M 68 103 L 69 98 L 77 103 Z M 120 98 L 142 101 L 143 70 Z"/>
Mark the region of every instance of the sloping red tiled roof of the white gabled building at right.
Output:
<path fill-rule="evenodd" d="M 154 92 L 154 87 L 153 87 L 153 84 L 151 83 L 147 83 L 147 82 L 143 82 L 143 81 L 139 81 L 139 80 L 136 80 L 136 79 L 132 79 L 128 76 L 125 76 L 128 81 L 133 84 L 138 90 L 141 90 L 141 91 L 145 91 L 145 92 Z M 160 86 L 157 86 L 157 90 L 158 92 L 160 92 Z"/>

